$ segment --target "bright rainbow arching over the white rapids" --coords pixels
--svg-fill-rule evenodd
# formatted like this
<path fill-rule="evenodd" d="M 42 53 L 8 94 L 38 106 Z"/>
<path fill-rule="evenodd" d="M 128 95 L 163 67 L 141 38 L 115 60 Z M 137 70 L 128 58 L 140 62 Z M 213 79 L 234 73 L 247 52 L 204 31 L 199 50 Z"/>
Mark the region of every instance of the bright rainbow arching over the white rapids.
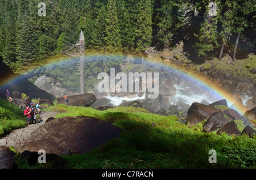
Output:
<path fill-rule="evenodd" d="M 97 59 L 100 56 L 102 56 L 102 55 L 101 54 L 86 55 L 85 61 L 88 58 Z M 115 55 L 113 55 L 112 57 L 115 57 Z M 135 59 L 141 59 L 139 57 L 134 57 L 134 58 Z M 52 65 L 57 65 L 58 63 L 69 63 L 72 59 L 79 59 L 79 57 L 77 57 L 77 58 L 72 58 L 72 57 L 55 58 L 52 61 L 50 61 L 49 63 L 43 63 L 42 62 L 42 65 L 38 65 L 38 66 L 32 65 L 32 68 L 28 69 L 26 71 L 26 73 L 33 72 L 36 69 L 42 68 L 42 67 L 50 68 Z M 166 65 L 166 64 L 163 64 L 162 62 L 153 61 L 152 59 L 144 59 L 144 61 L 146 61 L 146 63 L 153 63 L 154 62 L 154 65 L 162 67 L 162 70 L 164 70 L 164 71 L 172 71 L 172 72 L 175 72 L 175 73 L 183 76 L 184 78 L 186 78 L 188 80 L 189 79 L 194 80 L 195 82 L 201 84 L 202 87 L 208 89 L 209 91 L 213 92 L 215 95 L 220 97 L 220 100 L 225 98 L 225 100 L 228 102 L 228 104 L 232 105 L 232 109 L 237 110 L 237 112 L 240 113 L 240 114 L 244 114 L 246 112 L 246 110 L 248 110 L 243 104 L 235 103 L 238 100 L 238 97 L 236 95 L 233 95 L 233 93 L 230 93 L 230 92 L 226 91 L 225 89 L 221 88 L 220 84 L 218 84 L 216 82 L 212 82 L 211 80 L 206 78 L 206 76 L 204 76 L 200 73 L 197 73 L 195 71 L 190 71 L 186 68 L 180 68 L 180 67 L 177 67 L 177 66 Z M 23 75 L 24 74 L 21 74 L 21 75 L 10 78 L 8 80 L 8 82 L 0 84 L 0 88 L 3 88 L 3 87 L 6 88 L 6 84 L 15 83 L 16 81 L 19 81 L 20 78 Z"/>

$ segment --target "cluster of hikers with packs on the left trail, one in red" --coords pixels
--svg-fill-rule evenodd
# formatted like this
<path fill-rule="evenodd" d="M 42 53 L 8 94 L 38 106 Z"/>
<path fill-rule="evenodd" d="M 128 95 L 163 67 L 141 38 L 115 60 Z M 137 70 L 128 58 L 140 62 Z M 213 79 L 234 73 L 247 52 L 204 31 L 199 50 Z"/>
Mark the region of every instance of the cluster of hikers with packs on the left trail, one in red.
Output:
<path fill-rule="evenodd" d="M 11 93 L 9 91 L 9 89 L 7 89 L 6 91 L 6 97 L 7 97 L 7 100 L 9 100 L 10 102 L 14 102 L 14 104 L 18 105 L 18 102 L 14 101 L 13 98 L 11 97 Z M 40 98 L 37 98 L 37 104 L 36 106 L 34 106 L 34 103 L 31 102 L 30 100 L 28 99 L 24 99 L 24 106 L 20 106 L 20 109 L 24 109 L 24 115 L 26 115 L 27 117 L 27 125 L 30 125 L 32 123 L 36 123 L 36 114 L 40 114 L 40 109 L 39 109 L 39 106 L 40 106 Z"/>

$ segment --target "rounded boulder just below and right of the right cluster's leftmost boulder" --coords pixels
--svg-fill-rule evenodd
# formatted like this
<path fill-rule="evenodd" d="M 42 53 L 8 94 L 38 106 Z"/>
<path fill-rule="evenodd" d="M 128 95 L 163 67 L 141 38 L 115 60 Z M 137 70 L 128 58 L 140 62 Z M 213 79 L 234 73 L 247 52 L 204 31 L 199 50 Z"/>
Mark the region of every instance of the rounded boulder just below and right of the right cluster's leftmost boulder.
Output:
<path fill-rule="evenodd" d="M 224 117 L 222 112 L 213 113 L 207 122 L 203 125 L 203 132 L 212 132 L 220 129 L 223 125 L 229 122 L 228 118 Z"/>

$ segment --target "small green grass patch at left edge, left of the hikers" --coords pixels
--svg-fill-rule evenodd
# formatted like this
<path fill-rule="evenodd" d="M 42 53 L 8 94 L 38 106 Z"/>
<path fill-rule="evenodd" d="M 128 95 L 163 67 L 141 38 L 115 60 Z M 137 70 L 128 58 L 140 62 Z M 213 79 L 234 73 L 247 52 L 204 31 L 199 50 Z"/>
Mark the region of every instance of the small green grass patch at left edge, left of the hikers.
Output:
<path fill-rule="evenodd" d="M 0 98 L 0 138 L 9 134 L 12 130 L 27 125 L 23 110 L 14 103 Z"/>

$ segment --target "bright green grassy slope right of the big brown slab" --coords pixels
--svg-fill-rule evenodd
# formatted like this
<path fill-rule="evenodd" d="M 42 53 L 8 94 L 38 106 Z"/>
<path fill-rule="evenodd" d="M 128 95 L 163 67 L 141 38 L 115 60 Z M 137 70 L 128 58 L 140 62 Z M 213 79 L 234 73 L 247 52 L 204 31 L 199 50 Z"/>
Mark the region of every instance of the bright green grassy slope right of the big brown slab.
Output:
<path fill-rule="evenodd" d="M 64 112 L 57 114 L 56 118 L 96 117 L 123 129 L 118 138 L 101 148 L 83 155 L 63 156 L 68 160 L 68 168 L 256 168 L 255 136 L 201 132 L 201 125 L 189 128 L 175 115 L 150 114 L 133 106 L 99 111 L 58 104 L 44 110 Z M 217 152 L 217 164 L 208 161 L 210 149 Z"/>

